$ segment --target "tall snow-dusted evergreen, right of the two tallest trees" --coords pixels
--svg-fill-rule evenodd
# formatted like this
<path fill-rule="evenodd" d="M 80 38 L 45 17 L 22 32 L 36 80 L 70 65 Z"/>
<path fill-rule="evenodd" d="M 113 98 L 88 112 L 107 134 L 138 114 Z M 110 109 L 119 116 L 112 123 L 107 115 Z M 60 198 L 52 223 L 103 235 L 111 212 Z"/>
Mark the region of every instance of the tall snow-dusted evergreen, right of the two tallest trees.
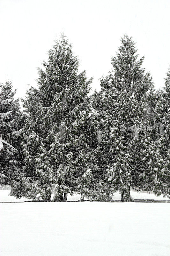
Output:
<path fill-rule="evenodd" d="M 132 200 L 130 187 L 143 187 L 144 174 L 149 175 L 154 169 L 156 149 L 152 147 L 150 132 L 145 129 L 149 125 L 145 116 L 146 95 L 153 90 L 152 78 L 149 73 L 144 74 L 141 68 L 144 57 L 137 60 L 132 38 L 125 35 L 121 42 L 119 52 L 112 59 L 114 73 L 100 80 L 97 112 L 102 120 L 100 149 L 105 189 L 110 196 L 119 190 L 124 202 Z M 144 159 L 143 154 L 150 151 Z"/>

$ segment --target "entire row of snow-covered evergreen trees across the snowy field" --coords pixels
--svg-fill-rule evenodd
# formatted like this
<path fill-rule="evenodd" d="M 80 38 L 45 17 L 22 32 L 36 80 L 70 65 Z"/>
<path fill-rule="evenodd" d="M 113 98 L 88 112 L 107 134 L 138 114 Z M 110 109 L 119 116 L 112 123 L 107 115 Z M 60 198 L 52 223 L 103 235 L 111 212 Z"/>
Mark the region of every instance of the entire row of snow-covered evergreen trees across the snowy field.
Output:
<path fill-rule="evenodd" d="M 12 82 L 1 84 L 1 184 L 11 195 L 55 202 L 133 201 L 130 189 L 169 195 L 170 69 L 155 90 L 135 42 L 125 34 L 113 71 L 100 78 L 79 73 L 79 60 L 61 33 L 38 68 L 38 88 L 14 100 Z"/>

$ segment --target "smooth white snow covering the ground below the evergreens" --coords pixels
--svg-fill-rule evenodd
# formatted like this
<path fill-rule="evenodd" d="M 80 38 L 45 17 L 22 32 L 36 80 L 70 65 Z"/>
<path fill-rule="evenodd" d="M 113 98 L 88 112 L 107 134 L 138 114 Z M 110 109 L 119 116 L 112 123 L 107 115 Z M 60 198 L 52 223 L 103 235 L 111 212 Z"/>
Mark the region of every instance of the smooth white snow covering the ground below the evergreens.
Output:
<path fill-rule="evenodd" d="M 169 203 L 0 203 L 0 256 L 169 256 L 169 212 Z"/>

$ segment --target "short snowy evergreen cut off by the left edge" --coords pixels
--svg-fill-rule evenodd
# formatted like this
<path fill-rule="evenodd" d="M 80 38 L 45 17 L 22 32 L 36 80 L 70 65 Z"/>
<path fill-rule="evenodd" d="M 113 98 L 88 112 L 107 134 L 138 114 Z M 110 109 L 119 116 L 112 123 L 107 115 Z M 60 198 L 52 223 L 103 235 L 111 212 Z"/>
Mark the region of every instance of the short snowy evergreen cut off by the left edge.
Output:
<path fill-rule="evenodd" d="M 20 133 L 19 100 L 14 100 L 12 82 L 0 85 L 0 183 L 10 184 L 16 169 L 18 139 Z"/>

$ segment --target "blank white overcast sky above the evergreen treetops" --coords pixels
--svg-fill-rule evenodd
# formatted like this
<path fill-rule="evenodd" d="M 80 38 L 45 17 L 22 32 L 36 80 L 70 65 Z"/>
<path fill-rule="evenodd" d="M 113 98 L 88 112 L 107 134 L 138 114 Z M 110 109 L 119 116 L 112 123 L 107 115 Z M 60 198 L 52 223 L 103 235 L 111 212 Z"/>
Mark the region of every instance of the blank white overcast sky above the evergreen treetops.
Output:
<path fill-rule="evenodd" d="M 80 71 L 93 76 L 92 88 L 112 68 L 120 38 L 133 36 L 143 67 L 155 87 L 164 86 L 170 64 L 170 0 L 0 0 L 0 82 L 8 76 L 17 97 L 36 86 L 37 67 L 61 31 L 73 44 Z"/>

